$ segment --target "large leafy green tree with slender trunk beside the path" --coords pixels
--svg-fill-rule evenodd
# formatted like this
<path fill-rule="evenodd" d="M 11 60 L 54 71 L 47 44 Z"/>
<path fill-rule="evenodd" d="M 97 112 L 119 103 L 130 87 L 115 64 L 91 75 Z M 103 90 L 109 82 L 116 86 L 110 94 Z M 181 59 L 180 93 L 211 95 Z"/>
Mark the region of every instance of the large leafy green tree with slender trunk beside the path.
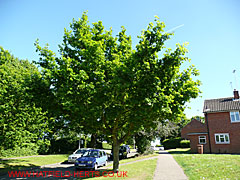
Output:
<path fill-rule="evenodd" d="M 132 49 L 131 37 L 122 27 L 117 37 L 102 22 L 89 25 L 86 13 L 66 30 L 60 57 L 40 47 L 39 64 L 51 80 L 64 114 L 72 126 L 97 129 L 112 140 L 114 171 L 119 166 L 119 146 L 141 129 L 148 130 L 164 119 L 179 119 L 185 102 L 196 98 L 199 81 L 194 66 L 180 71 L 185 45 L 165 49 L 172 33 L 164 32 L 158 18 L 139 36 Z M 164 55 L 159 52 L 165 49 Z"/>

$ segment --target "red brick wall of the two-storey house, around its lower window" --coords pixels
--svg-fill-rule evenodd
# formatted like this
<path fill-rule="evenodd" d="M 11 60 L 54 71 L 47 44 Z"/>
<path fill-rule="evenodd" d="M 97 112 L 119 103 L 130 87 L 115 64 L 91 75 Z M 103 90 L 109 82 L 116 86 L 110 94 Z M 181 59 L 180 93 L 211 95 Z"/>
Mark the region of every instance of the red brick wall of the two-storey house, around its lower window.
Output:
<path fill-rule="evenodd" d="M 207 116 L 212 153 L 240 153 L 240 123 L 231 123 L 229 112 L 208 113 Z M 216 144 L 215 133 L 229 133 L 230 144 Z"/>

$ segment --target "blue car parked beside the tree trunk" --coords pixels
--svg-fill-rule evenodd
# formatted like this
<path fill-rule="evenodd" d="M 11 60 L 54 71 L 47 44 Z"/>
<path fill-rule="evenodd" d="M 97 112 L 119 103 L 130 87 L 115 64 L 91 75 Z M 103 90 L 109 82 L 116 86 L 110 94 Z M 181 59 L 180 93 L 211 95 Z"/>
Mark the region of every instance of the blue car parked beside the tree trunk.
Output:
<path fill-rule="evenodd" d="M 107 165 L 107 154 L 99 149 L 91 149 L 86 151 L 82 157 L 75 161 L 76 169 L 97 170 L 99 166 Z"/>

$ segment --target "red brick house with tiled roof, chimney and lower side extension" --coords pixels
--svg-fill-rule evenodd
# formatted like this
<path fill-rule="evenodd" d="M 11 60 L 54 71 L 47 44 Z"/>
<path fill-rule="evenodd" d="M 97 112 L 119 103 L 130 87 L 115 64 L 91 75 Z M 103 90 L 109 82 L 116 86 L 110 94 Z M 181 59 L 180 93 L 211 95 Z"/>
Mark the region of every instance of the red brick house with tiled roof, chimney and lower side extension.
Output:
<path fill-rule="evenodd" d="M 233 94 L 205 100 L 205 122 L 192 120 L 182 129 L 181 136 L 190 140 L 192 152 L 202 144 L 204 153 L 240 153 L 240 99 L 238 91 Z"/>

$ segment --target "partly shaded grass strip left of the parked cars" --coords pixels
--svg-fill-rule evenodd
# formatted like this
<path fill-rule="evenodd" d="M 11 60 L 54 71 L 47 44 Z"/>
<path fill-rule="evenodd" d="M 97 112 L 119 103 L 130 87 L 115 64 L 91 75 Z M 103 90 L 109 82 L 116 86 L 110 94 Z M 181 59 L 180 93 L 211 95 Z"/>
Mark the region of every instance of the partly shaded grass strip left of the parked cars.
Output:
<path fill-rule="evenodd" d="M 28 167 L 37 167 L 47 164 L 54 164 L 64 162 L 69 155 L 46 155 L 40 157 L 29 157 L 23 159 L 9 159 L 0 161 L 0 172 L 7 172 L 9 170 L 21 170 Z"/>

